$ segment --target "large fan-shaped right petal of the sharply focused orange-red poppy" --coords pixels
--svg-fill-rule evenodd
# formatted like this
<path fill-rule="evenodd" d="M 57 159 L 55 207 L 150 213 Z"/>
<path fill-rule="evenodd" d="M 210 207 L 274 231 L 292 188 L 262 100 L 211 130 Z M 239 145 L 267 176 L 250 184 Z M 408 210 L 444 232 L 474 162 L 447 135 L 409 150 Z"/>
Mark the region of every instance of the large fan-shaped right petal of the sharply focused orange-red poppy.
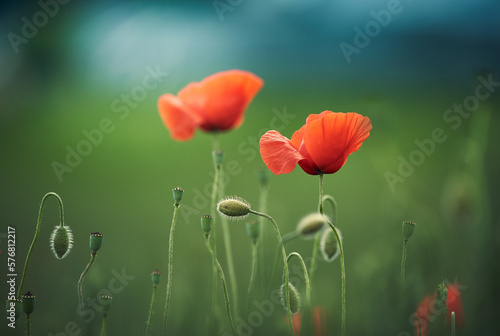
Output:
<path fill-rule="evenodd" d="M 322 173 L 332 174 L 345 164 L 370 135 L 370 119 L 357 113 L 325 111 L 308 120 L 304 145 Z"/>

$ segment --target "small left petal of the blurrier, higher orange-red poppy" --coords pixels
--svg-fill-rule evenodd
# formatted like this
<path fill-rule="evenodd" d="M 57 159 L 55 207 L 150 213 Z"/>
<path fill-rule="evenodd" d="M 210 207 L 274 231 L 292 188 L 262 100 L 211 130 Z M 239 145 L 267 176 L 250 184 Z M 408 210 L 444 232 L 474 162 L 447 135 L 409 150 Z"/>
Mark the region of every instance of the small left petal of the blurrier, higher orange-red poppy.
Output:
<path fill-rule="evenodd" d="M 173 139 L 186 141 L 193 137 L 200 118 L 190 112 L 179 98 L 164 94 L 158 99 L 158 110 Z"/>

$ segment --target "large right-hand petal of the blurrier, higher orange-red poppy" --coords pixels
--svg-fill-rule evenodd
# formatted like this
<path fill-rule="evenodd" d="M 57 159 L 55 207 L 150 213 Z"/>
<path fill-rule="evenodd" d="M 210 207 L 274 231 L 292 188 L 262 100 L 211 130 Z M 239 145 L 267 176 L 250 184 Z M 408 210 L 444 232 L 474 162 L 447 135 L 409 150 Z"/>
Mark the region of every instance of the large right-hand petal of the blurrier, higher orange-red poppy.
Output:
<path fill-rule="evenodd" d="M 225 131 L 241 125 L 246 108 L 263 85 L 251 72 L 229 70 L 187 85 L 178 97 L 201 118 L 204 131 Z"/>

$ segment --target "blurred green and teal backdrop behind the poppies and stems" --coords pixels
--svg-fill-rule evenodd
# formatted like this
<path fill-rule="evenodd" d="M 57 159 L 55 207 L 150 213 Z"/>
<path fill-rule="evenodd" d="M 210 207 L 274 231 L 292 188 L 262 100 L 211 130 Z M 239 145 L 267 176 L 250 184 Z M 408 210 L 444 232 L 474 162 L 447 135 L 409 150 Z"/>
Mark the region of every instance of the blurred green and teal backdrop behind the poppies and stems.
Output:
<path fill-rule="evenodd" d="M 150 273 L 158 268 L 163 278 L 151 334 L 160 335 L 177 186 L 185 193 L 167 328 L 209 334 L 212 275 L 199 218 L 210 213 L 212 139 L 197 132 L 188 142 L 172 140 L 156 103 L 215 72 L 243 69 L 265 85 L 244 124 L 221 136 L 221 148 L 235 167 L 226 176 L 227 194 L 254 205 L 265 131 L 291 137 L 309 114 L 324 110 L 372 120 L 361 149 L 325 176 L 345 243 L 347 333 L 413 335 L 410 316 L 446 280 L 461 286 L 462 333 L 498 335 L 499 22 L 495 0 L 2 3 L 0 268 L 7 274 L 6 233 L 13 226 L 20 280 L 48 191 L 62 197 L 75 240 L 65 259 L 51 255 L 48 239 L 59 215 L 49 199 L 24 286 L 37 297 L 33 334 L 78 334 L 72 331 L 81 323 L 76 284 L 89 259 L 89 233 L 99 231 L 104 244 L 84 297 L 111 291 L 108 334 L 144 334 Z M 317 194 L 318 178 L 300 168 L 271 177 L 267 209 L 283 234 L 317 209 Z M 403 220 L 417 223 L 404 294 Z M 251 242 L 241 222 L 230 228 L 240 334 L 287 333 L 280 306 L 249 324 Z M 267 234 L 261 248 L 271 260 L 276 241 Z M 287 250 L 307 259 L 312 242 L 295 240 Z M 278 288 L 278 279 L 266 280 L 269 265 L 262 269 L 259 288 Z M 0 289 L 6 296 L 4 281 Z M 304 293 L 303 284 L 299 289 Z M 255 299 L 269 297 L 257 290 Z M 222 291 L 219 300 L 222 314 Z M 340 334 L 338 260 L 318 262 L 312 304 L 326 310 L 327 334 Z M 97 333 L 100 314 L 91 310 L 85 318 Z M 211 334 L 229 334 L 222 321 Z M 23 318 L 17 326 L 23 334 Z M 5 319 L 1 330 L 7 334 Z"/>

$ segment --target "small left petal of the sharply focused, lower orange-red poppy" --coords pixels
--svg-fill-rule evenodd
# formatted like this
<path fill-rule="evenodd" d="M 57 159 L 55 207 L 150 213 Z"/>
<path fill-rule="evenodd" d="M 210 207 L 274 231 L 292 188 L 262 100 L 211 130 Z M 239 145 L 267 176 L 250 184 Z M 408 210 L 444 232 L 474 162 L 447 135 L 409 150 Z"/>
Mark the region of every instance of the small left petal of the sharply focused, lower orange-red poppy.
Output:
<path fill-rule="evenodd" d="M 288 174 L 304 158 L 290 140 L 278 131 L 266 132 L 259 141 L 260 155 L 266 166 L 275 175 Z"/>

